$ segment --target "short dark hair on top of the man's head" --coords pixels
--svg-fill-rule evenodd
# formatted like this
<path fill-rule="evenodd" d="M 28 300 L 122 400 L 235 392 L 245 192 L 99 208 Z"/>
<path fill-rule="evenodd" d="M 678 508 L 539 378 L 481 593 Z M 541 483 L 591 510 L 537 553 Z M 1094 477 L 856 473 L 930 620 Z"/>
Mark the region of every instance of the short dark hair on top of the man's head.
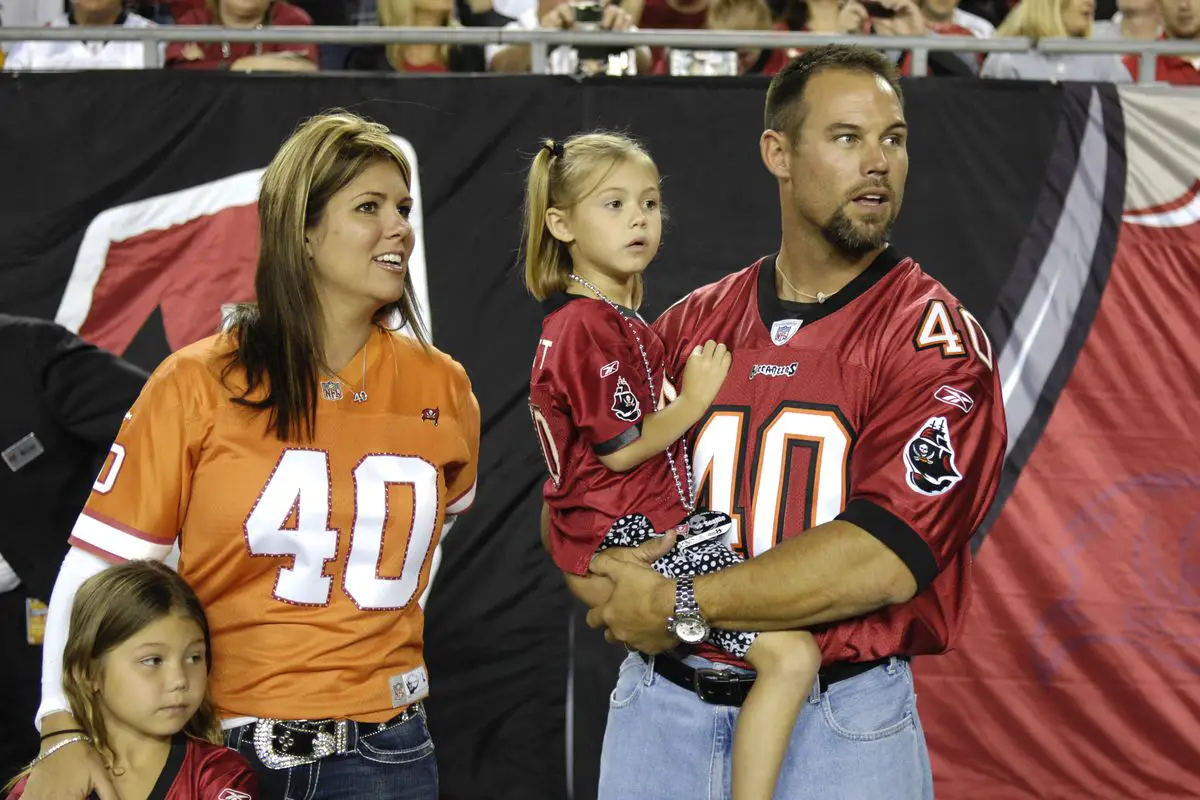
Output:
<path fill-rule="evenodd" d="M 779 71 L 767 89 L 767 107 L 763 110 L 762 124 L 768 131 L 778 131 L 792 142 L 799 133 L 804 121 L 802 104 L 804 90 L 818 72 L 823 70 L 850 70 L 868 72 L 888 82 L 896 92 L 896 98 L 904 106 L 900 91 L 900 73 L 895 65 L 878 50 L 858 44 L 823 44 L 805 50 L 792 62 Z"/>

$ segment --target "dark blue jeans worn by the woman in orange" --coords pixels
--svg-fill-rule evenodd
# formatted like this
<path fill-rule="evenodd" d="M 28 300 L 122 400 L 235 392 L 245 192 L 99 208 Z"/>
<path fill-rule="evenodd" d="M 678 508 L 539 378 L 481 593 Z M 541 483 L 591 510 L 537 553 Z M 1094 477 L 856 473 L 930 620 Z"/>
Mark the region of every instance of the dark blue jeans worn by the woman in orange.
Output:
<path fill-rule="evenodd" d="M 275 770 L 254 752 L 254 726 L 226 732 L 226 744 L 250 760 L 264 800 L 437 800 L 438 764 L 424 710 L 384 730 L 352 724 L 352 752 Z"/>

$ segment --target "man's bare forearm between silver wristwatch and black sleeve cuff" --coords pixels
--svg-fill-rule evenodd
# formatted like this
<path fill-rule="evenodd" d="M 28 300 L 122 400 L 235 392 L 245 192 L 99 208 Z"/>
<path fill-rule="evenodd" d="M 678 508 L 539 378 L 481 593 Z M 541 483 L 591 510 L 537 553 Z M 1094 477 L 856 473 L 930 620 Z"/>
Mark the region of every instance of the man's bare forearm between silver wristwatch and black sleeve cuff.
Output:
<path fill-rule="evenodd" d="M 745 564 L 700 576 L 695 587 L 710 625 L 740 631 L 850 619 L 904 602 L 917 591 L 904 561 L 847 522 L 818 525 Z M 673 597 L 662 597 L 656 604 L 667 606 L 670 614 L 673 603 Z"/>

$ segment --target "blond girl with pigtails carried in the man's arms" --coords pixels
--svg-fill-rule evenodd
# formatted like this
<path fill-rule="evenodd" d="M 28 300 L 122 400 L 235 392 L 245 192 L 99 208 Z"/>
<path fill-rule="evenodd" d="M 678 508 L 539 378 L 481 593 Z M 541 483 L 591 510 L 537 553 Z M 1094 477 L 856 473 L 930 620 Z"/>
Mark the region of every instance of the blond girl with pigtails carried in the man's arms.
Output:
<path fill-rule="evenodd" d="M 674 529 L 653 566 L 680 578 L 740 560 L 725 542 L 727 516 L 695 512 L 684 434 L 703 416 L 730 367 L 714 342 L 697 347 L 678 397 L 661 341 L 635 311 L 642 272 L 662 233 L 659 173 L 632 139 L 587 133 L 547 142 L 529 168 L 526 285 L 546 308 L 529 405 L 550 480 L 551 554 L 586 575 L 607 547 L 636 547 Z M 700 644 L 704 624 L 685 630 Z M 707 636 L 757 672 L 733 747 L 734 800 L 769 800 L 821 655 L 804 631 Z"/>

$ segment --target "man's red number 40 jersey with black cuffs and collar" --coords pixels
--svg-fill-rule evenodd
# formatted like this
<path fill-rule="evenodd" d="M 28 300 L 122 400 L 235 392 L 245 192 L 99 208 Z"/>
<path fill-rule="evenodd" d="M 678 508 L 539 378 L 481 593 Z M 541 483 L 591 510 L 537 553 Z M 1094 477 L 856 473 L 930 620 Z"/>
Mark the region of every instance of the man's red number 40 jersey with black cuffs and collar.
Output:
<path fill-rule="evenodd" d="M 774 273 L 764 258 L 655 323 L 668 371 L 706 339 L 733 354 L 690 437 L 700 505 L 733 517 L 748 557 L 844 519 L 904 559 L 917 596 L 815 630 L 826 663 L 944 651 L 1007 443 L 991 344 L 892 248 L 824 303 L 780 301 Z"/>

